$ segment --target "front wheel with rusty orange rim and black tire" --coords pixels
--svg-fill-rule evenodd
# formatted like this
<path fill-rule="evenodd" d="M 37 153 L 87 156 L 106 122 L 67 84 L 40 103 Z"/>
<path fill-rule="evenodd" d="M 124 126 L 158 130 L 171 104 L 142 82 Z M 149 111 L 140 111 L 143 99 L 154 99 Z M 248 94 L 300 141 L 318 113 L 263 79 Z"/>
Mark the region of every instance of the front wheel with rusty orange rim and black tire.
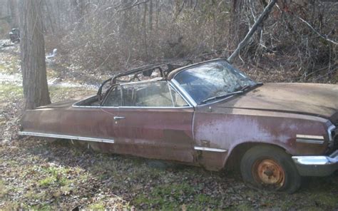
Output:
<path fill-rule="evenodd" d="M 295 192 L 301 177 L 284 150 L 267 145 L 257 145 L 247 150 L 240 163 L 243 180 L 259 189 Z"/>

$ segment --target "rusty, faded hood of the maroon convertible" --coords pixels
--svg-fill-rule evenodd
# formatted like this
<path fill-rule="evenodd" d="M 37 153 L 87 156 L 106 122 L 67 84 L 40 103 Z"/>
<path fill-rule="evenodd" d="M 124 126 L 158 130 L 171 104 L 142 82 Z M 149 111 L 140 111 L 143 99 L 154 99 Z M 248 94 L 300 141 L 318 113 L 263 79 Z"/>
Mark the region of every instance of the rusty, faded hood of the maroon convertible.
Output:
<path fill-rule="evenodd" d="M 338 120 L 338 86 L 317 83 L 265 83 L 217 107 L 302 113 Z"/>

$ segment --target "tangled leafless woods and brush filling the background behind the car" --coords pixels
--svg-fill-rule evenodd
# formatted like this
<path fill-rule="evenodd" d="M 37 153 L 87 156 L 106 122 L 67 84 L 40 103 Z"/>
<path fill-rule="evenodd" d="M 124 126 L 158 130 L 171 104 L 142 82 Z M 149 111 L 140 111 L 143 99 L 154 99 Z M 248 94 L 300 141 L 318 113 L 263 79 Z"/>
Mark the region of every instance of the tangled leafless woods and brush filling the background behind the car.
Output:
<path fill-rule="evenodd" d="M 168 58 L 227 58 L 272 0 L 44 1 L 46 49 L 90 73 L 111 73 Z M 235 65 L 329 80 L 338 72 L 337 12 L 333 0 L 277 1 Z"/>

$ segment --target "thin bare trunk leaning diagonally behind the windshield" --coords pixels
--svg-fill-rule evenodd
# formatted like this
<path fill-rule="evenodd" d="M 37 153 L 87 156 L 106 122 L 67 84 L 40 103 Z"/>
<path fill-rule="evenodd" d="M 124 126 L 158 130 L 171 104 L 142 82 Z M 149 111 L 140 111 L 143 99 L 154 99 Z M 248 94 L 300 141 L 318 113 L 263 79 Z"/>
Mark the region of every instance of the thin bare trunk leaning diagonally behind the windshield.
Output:
<path fill-rule="evenodd" d="M 267 16 L 267 14 L 270 13 L 270 10 L 272 9 L 272 7 L 275 5 L 277 0 L 271 0 L 270 3 L 265 7 L 264 11 L 262 11 L 262 14 L 260 14 L 260 16 L 258 17 L 257 21 L 255 22 L 255 24 L 253 24 L 253 26 L 251 27 L 250 31 L 247 33 L 247 35 L 245 36 L 245 38 L 238 44 L 236 50 L 231 54 L 231 56 L 229 56 L 229 58 L 227 58 L 227 61 L 229 63 L 232 63 L 235 58 L 238 56 L 238 54 L 240 53 L 240 50 L 247 45 L 247 42 L 250 40 L 250 38 L 252 37 L 252 35 L 255 33 L 255 31 L 257 30 L 258 26 L 260 24 L 262 24 L 263 19 L 265 18 L 265 16 Z"/>

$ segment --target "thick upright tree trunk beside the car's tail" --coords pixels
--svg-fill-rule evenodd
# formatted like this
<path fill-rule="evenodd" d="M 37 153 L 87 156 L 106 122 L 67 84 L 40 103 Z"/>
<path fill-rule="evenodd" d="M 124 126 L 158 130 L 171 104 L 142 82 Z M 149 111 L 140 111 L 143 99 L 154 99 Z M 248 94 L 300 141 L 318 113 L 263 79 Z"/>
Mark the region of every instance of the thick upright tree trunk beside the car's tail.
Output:
<path fill-rule="evenodd" d="M 46 77 L 41 0 L 20 1 L 21 71 L 25 109 L 51 103 Z"/>

